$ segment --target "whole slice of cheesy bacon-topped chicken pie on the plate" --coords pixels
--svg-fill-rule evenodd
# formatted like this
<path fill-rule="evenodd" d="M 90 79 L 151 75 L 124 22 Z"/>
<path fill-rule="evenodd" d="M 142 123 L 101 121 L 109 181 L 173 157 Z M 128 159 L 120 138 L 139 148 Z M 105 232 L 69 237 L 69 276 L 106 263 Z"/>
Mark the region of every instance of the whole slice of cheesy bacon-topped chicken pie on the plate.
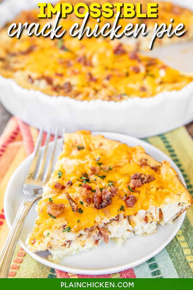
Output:
<path fill-rule="evenodd" d="M 170 163 L 157 162 L 141 146 L 68 133 L 26 244 L 58 262 L 110 238 L 122 245 L 134 234 L 150 235 L 192 201 Z"/>

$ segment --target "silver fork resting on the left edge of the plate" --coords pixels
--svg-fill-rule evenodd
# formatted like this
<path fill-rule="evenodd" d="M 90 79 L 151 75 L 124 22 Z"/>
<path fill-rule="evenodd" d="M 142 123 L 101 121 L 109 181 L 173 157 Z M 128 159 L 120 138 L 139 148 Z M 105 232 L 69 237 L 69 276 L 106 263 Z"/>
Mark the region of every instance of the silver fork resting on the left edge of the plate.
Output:
<path fill-rule="evenodd" d="M 17 211 L 16 217 L 10 229 L 10 233 L 5 241 L 4 247 L 0 254 L 0 278 L 7 278 L 11 259 L 16 246 L 16 242 L 19 238 L 24 220 L 29 212 L 33 203 L 41 198 L 43 186 L 49 180 L 52 171 L 52 165 L 54 160 L 54 155 L 56 151 L 56 140 L 58 138 L 58 128 L 56 128 L 54 141 L 52 143 L 51 152 L 48 155 L 48 143 L 50 139 L 50 130 L 47 132 L 47 137 L 45 141 L 45 146 L 40 152 L 41 144 L 43 138 L 43 128 L 40 129 L 36 145 L 34 148 L 34 156 L 32 163 L 30 165 L 27 177 L 22 186 L 22 192 L 24 194 L 24 200 Z M 45 164 L 47 161 L 47 166 L 45 169 Z M 43 175 L 43 172 L 45 174 Z"/>

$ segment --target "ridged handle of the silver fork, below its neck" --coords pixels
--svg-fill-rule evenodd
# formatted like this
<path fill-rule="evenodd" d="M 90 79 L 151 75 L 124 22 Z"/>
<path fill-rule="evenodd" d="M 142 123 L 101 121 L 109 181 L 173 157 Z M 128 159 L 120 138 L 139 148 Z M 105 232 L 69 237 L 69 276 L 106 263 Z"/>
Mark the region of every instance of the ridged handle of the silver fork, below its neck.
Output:
<path fill-rule="evenodd" d="M 34 203 L 34 198 L 27 196 L 19 207 L 9 235 L 0 254 L 0 278 L 7 278 L 16 242 L 19 238 L 25 217 Z"/>

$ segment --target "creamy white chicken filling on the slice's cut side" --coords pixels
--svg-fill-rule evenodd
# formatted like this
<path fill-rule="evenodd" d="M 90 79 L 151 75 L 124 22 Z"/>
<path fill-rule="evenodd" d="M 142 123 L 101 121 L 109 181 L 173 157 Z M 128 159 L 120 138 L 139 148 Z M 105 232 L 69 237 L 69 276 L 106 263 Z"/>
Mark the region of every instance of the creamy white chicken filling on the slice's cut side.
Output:
<path fill-rule="evenodd" d="M 172 224 L 186 209 L 187 205 L 183 203 L 168 204 L 162 209 L 150 206 L 147 211 L 139 210 L 137 214 L 128 217 L 124 217 L 121 213 L 109 222 L 103 221 L 99 226 L 92 226 L 78 233 L 63 233 L 58 229 L 47 244 L 47 249 L 51 253 L 49 260 L 56 262 L 67 255 L 88 251 L 97 247 L 101 241 L 108 243 L 109 239 L 115 240 L 117 246 L 121 247 L 124 241 L 134 235 L 155 233 L 157 224 Z"/>

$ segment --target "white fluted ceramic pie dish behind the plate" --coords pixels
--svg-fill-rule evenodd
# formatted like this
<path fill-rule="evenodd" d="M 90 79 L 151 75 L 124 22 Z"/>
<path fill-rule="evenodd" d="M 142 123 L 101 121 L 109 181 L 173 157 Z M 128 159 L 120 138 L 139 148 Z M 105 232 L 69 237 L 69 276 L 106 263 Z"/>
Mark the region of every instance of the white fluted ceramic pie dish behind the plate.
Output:
<path fill-rule="evenodd" d="M 182 3 L 182 1 L 174 1 Z M 188 1 L 187 1 L 188 2 Z M 37 7 L 37 0 L 6 0 L 0 4 L 0 26 L 21 10 Z M 112 131 L 135 137 L 149 137 L 171 131 L 193 119 L 193 82 L 179 91 L 155 97 L 130 98 L 122 102 L 79 101 L 67 96 L 51 97 L 38 90 L 24 89 L 12 79 L 0 76 L 0 99 L 5 108 L 21 120 L 40 128 Z"/>

